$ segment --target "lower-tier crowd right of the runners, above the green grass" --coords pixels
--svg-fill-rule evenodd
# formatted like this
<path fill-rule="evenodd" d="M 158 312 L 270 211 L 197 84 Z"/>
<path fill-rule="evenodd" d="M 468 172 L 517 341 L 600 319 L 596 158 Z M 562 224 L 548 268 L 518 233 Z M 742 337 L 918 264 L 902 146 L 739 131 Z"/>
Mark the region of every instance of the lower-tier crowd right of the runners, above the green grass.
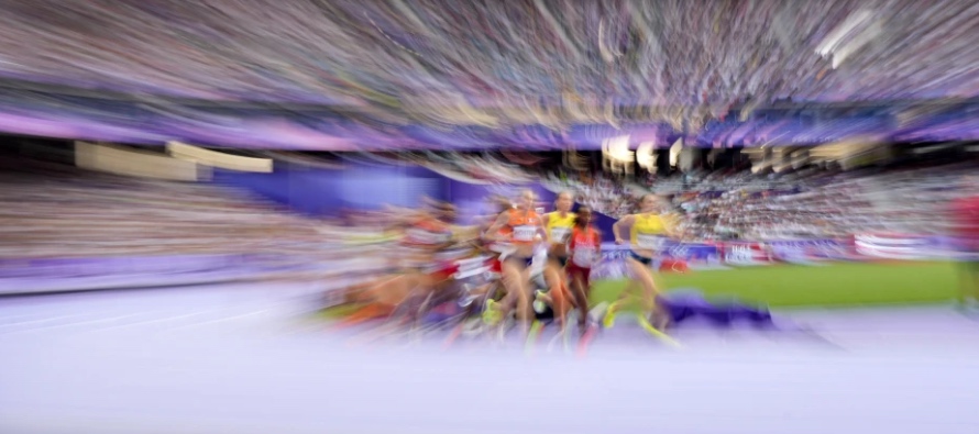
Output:
<path fill-rule="evenodd" d="M 927 166 L 892 170 L 754 175 L 685 174 L 644 188 L 598 178 L 562 180 L 552 190 L 570 189 L 580 201 L 613 218 L 634 212 L 645 192 L 669 194 L 685 214 L 689 241 L 845 237 L 887 232 L 934 235 L 949 232 L 950 201 L 979 193 L 965 182 L 971 166 Z"/>

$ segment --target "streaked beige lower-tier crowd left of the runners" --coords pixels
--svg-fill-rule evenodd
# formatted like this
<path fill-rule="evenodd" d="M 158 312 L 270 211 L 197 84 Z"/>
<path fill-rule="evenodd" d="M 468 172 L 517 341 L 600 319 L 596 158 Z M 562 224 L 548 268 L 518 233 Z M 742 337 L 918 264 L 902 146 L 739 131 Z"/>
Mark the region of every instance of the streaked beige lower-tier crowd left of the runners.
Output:
<path fill-rule="evenodd" d="M 409 253 L 389 226 L 411 210 L 310 216 L 218 183 L 141 179 L 21 158 L 0 158 L 0 268 L 10 267 L 7 275 L 69 268 L 125 274 L 133 266 L 118 259 L 183 264 L 196 257 L 258 267 L 266 278 L 340 285 L 398 267 Z M 73 259 L 118 265 L 86 268 Z"/>

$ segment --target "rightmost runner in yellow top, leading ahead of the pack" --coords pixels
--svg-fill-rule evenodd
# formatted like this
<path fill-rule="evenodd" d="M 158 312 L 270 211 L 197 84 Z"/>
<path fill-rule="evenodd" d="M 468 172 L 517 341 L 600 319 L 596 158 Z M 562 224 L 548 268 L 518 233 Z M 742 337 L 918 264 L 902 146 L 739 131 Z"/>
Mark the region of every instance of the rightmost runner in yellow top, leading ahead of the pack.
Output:
<path fill-rule="evenodd" d="M 652 279 L 652 269 L 658 267 L 658 257 L 662 254 L 667 241 L 675 236 L 675 216 L 669 213 L 669 204 L 666 199 L 646 194 L 639 200 L 639 213 L 626 215 L 612 226 L 616 244 L 624 243 L 622 226 L 630 226 L 629 243 L 631 248 L 626 264 L 634 279 L 642 286 L 642 308 L 650 314 L 656 304 L 656 296 L 659 293 Z M 619 301 L 608 308 L 605 318 L 606 325 L 610 325 L 618 304 L 629 294 L 624 293 L 623 296 Z"/>

